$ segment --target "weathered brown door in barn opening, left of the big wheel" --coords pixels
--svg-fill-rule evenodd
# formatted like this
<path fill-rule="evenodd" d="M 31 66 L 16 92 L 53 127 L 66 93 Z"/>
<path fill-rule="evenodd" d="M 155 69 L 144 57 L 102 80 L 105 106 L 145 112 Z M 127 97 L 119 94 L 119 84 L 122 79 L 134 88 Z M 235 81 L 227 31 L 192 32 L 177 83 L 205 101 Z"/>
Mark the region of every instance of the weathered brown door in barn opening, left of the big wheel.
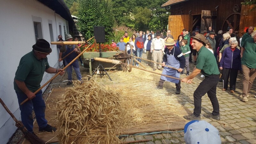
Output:
<path fill-rule="evenodd" d="M 212 27 L 216 31 L 216 17 L 216 11 L 202 10 L 200 33 L 208 30 L 209 27 Z"/>

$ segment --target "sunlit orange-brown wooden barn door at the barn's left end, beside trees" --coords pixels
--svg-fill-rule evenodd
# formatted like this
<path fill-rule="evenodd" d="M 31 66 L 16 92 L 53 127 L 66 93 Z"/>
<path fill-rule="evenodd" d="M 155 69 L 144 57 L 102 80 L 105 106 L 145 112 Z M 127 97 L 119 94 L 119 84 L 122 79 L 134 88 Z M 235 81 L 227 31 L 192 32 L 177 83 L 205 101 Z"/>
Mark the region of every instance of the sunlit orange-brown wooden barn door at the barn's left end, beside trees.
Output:
<path fill-rule="evenodd" d="M 171 29 L 171 35 L 174 40 L 182 33 L 182 29 L 190 29 L 190 15 L 170 15 L 168 29 Z"/>

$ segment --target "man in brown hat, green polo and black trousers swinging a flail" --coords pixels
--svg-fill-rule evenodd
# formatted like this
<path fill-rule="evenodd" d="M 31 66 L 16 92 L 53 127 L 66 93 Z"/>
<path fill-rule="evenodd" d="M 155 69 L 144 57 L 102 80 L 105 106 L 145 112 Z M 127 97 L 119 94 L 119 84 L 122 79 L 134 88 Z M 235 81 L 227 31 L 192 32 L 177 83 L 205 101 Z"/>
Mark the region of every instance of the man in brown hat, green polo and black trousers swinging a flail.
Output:
<path fill-rule="evenodd" d="M 200 72 L 205 76 L 204 80 L 199 84 L 194 92 L 194 113 L 183 116 L 187 120 L 200 120 L 201 119 L 201 105 L 202 96 L 206 93 L 212 102 L 212 113 L 204 114 L 204 117 L 220 119 L 220 106 L 216 96 L 216 88 L 219 82 L 219 69 L 216 63 L 216 59 L 211 51 L 205 48 L 205 37 L 202 34 L 192 36 L 192 44 L 194 50 L 198 52 L 196 67 L 193 72 L 182 79 L 182 82 L 188 84 L 192 83 L 193 78 Z"/>

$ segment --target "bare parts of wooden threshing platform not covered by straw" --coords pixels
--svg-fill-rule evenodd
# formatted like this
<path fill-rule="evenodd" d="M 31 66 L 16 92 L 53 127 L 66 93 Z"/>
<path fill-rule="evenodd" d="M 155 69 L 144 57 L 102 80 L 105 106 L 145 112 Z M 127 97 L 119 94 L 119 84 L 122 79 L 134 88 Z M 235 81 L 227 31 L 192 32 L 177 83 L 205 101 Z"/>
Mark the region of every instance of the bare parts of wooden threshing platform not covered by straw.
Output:
<path fill-rule="evenodd" d="M 116 87 L 116 85 L 110 85 L 111 87 Z M 120 84 L 118 85 L 120 86 Z M 66 88 L 55 88 L 52 89 L 52 92 L 49 95 L 48 100 L 45 102 L 46 104 L 46 110 L 45 110 L 45 118 L 48 120 L 48 124 L 55 126 L 56 120 L 51 119 L 51 116 L 56 115 L 56 112 L 54 110 L 51 110 L 52 106 L 56 106 L 56 101 L 61 100 L 60 95 L 64 94 Z M 180 113 L 187 115 L 188 110 L 184 109 L 182 107 Z M 120 135 L 124 134 L 135 134 L 135 133 L 144 133 L 144 132 L 161 132 L 161 131 L 174 131 L 174 130 L 182 130 L 184 129 L 184 125 L 188 123 L 187 120 L 182 121 L 173 121 L 172 119 L 169 119 L 169 122 L 166 123 L 156 123 L 156 124 L 149 124 L 145 126 L 144 128 L 136 128 L 130 127 L 130 128 L 124 128 L 120 130 Z M 36 135 L 41 138 L 44 141 L 48 141 L 48 143 L 55 143 L 58 142 L 58 132 L 39 132 L 38 131 L 38 125 L 35 122 L 34 124 L 34 132 Z M 30 142 L 26 139 L 24 139 L 23 144 L 30 144 Z"/>

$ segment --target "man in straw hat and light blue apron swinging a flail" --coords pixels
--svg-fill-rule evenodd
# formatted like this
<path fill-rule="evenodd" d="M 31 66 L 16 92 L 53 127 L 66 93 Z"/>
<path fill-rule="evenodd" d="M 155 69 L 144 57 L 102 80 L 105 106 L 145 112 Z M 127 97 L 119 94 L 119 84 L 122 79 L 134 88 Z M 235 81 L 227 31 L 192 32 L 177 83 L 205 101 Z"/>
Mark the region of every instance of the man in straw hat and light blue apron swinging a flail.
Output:
<path fill-rule="evenodd" d="M 167 65 L 173 68 L 177 68 L 178 71 L 172 68 L 164 67 L 162 74 L 180 78 L 180 72 L 182 72 L 183 68 L 185 67 L 185 57 L 183 56 L 180 49 L 174 44 L 175 44 L 175 41 L 172 38 L 166 39 L 166 42 L 165 42 L 166 48 L 164 49 L 165 54 L 164 54 L 162 66 Z M 160 81 L 156 89 L 162 89 L 164 81 L 175 83 L 175 86 L 176 86 L 175 93 L 180 94 L 180 88 L 181 88 L 180 80 L 173 79 L 166 76 L 160 77 Z"/>

